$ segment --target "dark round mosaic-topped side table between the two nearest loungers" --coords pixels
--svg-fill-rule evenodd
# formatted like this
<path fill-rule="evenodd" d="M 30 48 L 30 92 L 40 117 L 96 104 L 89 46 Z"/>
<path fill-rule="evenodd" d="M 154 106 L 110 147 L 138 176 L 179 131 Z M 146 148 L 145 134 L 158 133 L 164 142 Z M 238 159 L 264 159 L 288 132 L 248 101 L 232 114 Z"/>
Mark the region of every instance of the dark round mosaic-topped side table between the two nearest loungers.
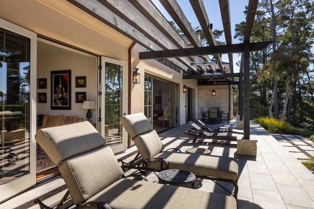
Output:
<path fill-rule="evenodd" d="M 169 169 L 162 170 L 158 173 L 158 183 L 168 184 L 173 186 L 185 186 L 191 184 L 194 186 L 196 177 L 194 173 L 179 170 L 179 169 Z"/>

